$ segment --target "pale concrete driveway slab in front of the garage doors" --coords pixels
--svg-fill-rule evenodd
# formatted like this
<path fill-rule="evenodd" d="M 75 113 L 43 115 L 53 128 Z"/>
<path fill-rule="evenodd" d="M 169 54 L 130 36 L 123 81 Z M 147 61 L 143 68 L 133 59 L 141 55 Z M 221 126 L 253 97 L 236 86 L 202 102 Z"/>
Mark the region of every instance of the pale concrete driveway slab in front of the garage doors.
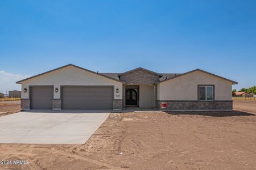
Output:
<path fill-rule="evenodd" d="M 29 111 L 0 117 L 0 143 L 83 144 L 109 111 Z"/>

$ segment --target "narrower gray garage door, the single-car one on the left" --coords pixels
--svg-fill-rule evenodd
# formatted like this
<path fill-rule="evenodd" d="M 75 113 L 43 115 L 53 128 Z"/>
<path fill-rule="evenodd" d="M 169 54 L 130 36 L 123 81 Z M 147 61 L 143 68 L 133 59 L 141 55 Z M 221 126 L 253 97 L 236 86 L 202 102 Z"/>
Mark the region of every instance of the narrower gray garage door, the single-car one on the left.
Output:
<path fill-rule="evenodd" d="M 53 86 L 30 87 L 31 109 L 52 109 Z"/>

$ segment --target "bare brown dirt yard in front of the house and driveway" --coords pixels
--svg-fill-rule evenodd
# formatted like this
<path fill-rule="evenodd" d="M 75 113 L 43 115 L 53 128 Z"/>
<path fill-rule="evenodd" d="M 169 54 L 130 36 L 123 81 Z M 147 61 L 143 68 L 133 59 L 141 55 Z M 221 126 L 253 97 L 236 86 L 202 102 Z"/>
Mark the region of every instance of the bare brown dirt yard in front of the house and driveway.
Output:
<path fill-rule="evenodd" d="M 0 145 L 30 163 L 0 169 L 256 169 L 255 131 L 239 111 L 112 113 L 85 145 Z"/>

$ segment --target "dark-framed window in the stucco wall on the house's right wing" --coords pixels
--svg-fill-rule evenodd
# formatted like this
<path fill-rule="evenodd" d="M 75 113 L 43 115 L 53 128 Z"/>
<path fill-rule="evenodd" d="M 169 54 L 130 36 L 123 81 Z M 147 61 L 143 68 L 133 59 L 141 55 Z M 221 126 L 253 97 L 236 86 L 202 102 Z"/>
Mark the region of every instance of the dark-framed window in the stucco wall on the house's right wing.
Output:
<path fill-rule="evenodd" d="M 199 86 L 199 100 L 214 100 L 214 86 Z"/>

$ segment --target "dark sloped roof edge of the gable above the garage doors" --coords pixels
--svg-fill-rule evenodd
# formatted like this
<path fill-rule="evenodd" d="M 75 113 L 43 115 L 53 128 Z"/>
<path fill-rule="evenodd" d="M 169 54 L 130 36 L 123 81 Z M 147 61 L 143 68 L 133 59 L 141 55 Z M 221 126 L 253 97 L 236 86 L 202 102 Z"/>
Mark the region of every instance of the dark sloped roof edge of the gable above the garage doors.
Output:
<path fill-rule="evenodd" d="M 29 79 L 32 79 L 32 78 L 36 78 L 36 77 L 38 77 L 38 76 L 40 76 L 40 75 L 52 73 L 53 71 L 60 70 L 60 69 L 63 69 L 63 68 L 65 68 L 65 67 L 68 67 L 68 66 L 76 67 L 77 69 L 81 69 L 81 70 L 84 70 L 84 71 L 88 71 L 88 72 L 90 72 L 90 73 L 97 74 L 97 75 L 100 75 L 100 76 L 104 76 L 105 78 L 109 78 L 109 79 L 115 80 L 115 81 L 117 81 L 117 82 L 124 83 L 124 82 L 122 82 L 122 81 L 120 81 L 120 80 L 117 80 L 117 79 L 111 78 L 111 77 L 109 77 L 109 76 L 106 76 L 106 75 L 103 75 L 103 74 L 99 74 L 99 73 L 96 73 L 96 72 L 94 72 L 94 71 L 87 70 L 87 69 L 84 69 L 84 68 L 82 68 L 82 67 L 79 67 L 79 66 L 76 66 L 76 65 L 72 65 L 72 64 L 68 64 L 68 65 L 59 67 L 59 68 L 57 68 L 57 69 L 49 70 L 49 71 L 46 71 L 46 72 L 44 72 L 44 73 L 31 76 L 31 77 L 29 77 L 29 78 L 26 78 L 26 79 L 23 79 L 23 80 L 19 80 L 19 81 L 16 82 L 16 83 L 17 83 L 17 84 L 20 84 L 20 83 L 22 83 L 22 82 L 24 82 L 24 81 L 26 81 L 26 80 L 29 80 Z"/>

